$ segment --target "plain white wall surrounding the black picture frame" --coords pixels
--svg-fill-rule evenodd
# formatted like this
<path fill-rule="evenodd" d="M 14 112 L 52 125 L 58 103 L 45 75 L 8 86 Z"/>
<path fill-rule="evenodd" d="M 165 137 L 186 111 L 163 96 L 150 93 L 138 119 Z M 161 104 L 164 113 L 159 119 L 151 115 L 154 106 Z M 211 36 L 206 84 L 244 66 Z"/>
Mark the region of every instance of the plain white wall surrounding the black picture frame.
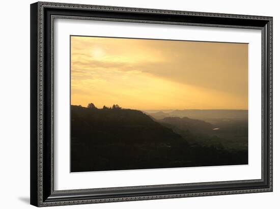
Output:
<path fill-rule="evenodd" d="M 218 12 L 273 16 L 274 68 L 274 191 L 181 199 L 148 200 L 60 208 L 278 208 L 280 197 L 280 13 L 277 1 L 126 1 L 66 0 L 65 3 Z M 30 4 L 33 1 L 5 1 L 1 4 L 0 33 L 0 207 L 32 208 L 29 205 L 30 178 Z M 57 207 L 58 208 L 58 207 Z"/>

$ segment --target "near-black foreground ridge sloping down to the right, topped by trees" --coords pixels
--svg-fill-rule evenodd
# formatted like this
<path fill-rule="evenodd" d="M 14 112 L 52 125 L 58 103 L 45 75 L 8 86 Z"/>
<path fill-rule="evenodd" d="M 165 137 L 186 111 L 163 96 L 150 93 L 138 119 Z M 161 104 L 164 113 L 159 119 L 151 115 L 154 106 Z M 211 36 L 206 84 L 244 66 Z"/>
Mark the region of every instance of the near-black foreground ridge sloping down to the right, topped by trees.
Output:
<path fill-rule="evenodd" d="M 246 150 L 189 143 L 138 110 L 71 106 L 71 172 L 241 165 L 247 159 Z"/>

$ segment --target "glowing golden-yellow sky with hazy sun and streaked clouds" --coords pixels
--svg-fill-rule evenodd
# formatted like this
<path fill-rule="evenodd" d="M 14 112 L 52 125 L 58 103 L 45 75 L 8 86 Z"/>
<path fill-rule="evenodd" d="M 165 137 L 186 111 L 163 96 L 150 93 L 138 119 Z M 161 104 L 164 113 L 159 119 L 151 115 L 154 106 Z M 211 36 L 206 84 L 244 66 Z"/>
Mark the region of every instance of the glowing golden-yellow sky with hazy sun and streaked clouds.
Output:
<path fill-rule="evenodd" d="M 248 44 L 71 36 L 71 104 L 247 109 Z"/>

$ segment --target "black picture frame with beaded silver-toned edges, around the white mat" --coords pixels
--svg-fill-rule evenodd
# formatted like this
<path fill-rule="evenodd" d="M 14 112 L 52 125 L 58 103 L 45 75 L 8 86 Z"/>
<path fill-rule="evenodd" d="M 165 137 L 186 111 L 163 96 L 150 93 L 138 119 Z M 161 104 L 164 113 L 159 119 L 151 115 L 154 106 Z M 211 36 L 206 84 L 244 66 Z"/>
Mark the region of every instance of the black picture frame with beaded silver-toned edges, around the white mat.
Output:
<path fill-rule="evenodd" d="M 99 19 L 262 31 L 262 178 L 53 190 L 53 20 Z M 272 17 L 38 2 L 31 5 L 31 204 L 53 206 L 272 191 Z"/>

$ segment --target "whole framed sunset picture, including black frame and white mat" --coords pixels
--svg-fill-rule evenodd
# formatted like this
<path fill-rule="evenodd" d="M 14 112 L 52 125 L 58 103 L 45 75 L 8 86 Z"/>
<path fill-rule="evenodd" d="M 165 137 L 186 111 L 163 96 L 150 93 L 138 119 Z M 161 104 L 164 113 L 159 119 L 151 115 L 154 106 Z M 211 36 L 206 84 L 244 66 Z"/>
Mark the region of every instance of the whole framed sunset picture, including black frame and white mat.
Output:
<path fill-rule="evenodd" d="M 272 17 L 31 5 L 31 204 L 272 191 Z"/>

